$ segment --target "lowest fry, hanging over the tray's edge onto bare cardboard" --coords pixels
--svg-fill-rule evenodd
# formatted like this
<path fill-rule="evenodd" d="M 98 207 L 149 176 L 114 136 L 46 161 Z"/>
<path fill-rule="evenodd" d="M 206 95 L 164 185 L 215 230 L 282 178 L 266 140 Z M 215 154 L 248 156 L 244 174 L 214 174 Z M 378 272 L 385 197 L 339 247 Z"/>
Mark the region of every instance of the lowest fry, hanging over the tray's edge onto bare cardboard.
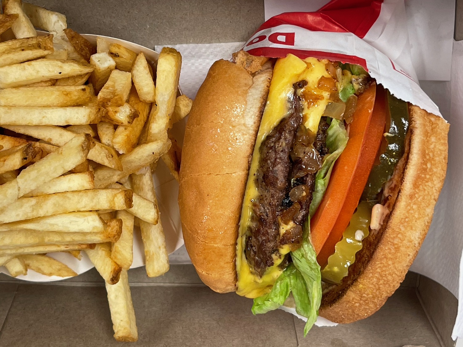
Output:
<path fill-rule="evenodd" d="M 113 321 L 114 338 L 117 341 L 138 341 L 138 329 L 133 309 L 127 270 L 120 273 L 115 285 L 106 283 L 109 310 Z"/>

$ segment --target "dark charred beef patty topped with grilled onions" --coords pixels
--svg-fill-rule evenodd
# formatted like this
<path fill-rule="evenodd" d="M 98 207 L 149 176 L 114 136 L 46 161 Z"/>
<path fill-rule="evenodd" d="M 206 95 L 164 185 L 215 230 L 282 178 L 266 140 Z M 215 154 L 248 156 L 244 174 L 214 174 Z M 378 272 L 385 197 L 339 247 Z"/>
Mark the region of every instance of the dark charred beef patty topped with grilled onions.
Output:
<path fill-rule="evenodd" d="M 265 138 L 260 147 L 256 185 L 257 201 L 253 202 L 252 226 L 246 240 L 246 258 L 262 277 L 274 265 L 278 248 L 300 247 L 302 224 L 307 219 L 315 185 L 315 174 L 321 167 L 326 148 L 326 118 L 322 118 L 317 134 L 302 122 L 302 103 L 296 90 L 305 81 L 294 84 L 294 97 L 287 117 Z M 307 82 L 306 82 L 307 83 Z M 280 225 L 288 226 L 280 235 Z M 287 261 L 283 263 L 287 264 Z"/>

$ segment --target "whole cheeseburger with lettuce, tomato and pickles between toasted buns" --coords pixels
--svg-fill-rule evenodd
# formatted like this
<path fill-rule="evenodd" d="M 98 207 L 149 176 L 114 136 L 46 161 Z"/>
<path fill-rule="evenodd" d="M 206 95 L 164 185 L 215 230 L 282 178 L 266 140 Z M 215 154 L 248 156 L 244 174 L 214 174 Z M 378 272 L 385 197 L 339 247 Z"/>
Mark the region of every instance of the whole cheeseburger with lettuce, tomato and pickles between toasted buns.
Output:
<path fill-rule="evenodd" d="M 215 62 L 191 109 L 179 204 L 203 282 L 347 323 L 400 285 L 447 165 L 443 118 L 361 66 L 244 51 Z"/>

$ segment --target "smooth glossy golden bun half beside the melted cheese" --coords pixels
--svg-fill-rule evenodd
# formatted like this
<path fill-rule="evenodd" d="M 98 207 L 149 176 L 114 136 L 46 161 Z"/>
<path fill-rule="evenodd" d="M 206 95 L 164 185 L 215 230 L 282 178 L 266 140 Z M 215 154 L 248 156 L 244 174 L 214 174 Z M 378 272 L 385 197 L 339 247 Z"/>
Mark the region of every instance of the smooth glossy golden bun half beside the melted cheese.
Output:
<path fill-rule="evenodd" d="M 236 289 L 236 240 L 250 156 L 272 76 L 215 62 L 188 117 L 180 168 L 183 238 L 202 281 Z"/>

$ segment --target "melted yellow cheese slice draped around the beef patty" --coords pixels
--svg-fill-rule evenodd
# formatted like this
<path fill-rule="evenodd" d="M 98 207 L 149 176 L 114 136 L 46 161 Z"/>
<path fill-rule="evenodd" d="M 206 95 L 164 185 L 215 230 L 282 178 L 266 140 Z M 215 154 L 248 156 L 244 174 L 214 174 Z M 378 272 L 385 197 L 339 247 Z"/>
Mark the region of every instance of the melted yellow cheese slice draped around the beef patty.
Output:
<path fill-rule="evenodd" d="M 330 92 L 318 88 L 321 76 L 331 77 L 325 69 L 326 62 L 328 61 L 319 61 L 315 58 L 302 60 L 297 56 L 288 54 L 288 56 L 278 59 L 275 63 L 267 104 L 257 133 L 241 211 L 236 257 L 237 293 L 239 295 L 254 298 L 268 293 L 283 271 L 279 265 L 284 255 L 289 253 L 288 245 L 284 245 L 279 249 L 281 257 L 274 256 L 274 265 L 266 269 L 262 278 L 253 272 L 245 255 L 249 227 L 252 223 L 252 202 L 258 197 L 256 179 L 260 159 L 259 149 L 270 131 L 290 112 L 288 100 L 291 99 L 294 93 L 293 84 L 301 80 L 307 81 L 304 90 L 308 90 L 319 97 L 318 100 L 310 102 L 310 106 L 307 100 L 303 100 L 303 123 L 313 132 L 318 131 L 320 118 L 325 111 L 326 105 L 330 102 Z M 280 226 L 280 229 L 285 229 L 285 226 Z"/>

